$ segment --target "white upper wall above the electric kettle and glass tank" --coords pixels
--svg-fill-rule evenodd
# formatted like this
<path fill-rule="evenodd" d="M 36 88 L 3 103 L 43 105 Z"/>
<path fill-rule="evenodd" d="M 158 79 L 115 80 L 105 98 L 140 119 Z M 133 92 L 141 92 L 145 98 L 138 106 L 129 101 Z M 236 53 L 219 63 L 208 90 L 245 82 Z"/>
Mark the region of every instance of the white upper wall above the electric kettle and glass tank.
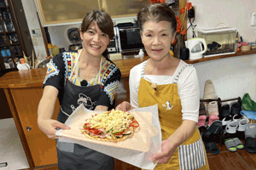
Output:
<path fill-rule="evenodd" d="M 256 26 L 250 26 L 250 16 L 256 12 L 255 0 L 189 0 L 195 5 L 195 31 L 215 28 L 219 23 L 234 27 L 244 42 L 256 41 Z M 225 27 L 224 24 L 217 27 Z M 189 26 L 189 23 L 188 23 Z M 191 29 L 189 29 L 189 37 Z"/>

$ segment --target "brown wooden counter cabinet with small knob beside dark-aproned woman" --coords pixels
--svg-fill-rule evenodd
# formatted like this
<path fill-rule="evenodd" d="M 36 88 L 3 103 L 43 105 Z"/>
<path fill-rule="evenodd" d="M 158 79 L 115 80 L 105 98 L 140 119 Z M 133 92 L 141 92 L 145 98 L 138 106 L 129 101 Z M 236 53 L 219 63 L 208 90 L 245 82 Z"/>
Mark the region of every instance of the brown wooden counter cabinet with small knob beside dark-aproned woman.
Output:
<path fill-rule="evenodd" d="M 31 169 L 57 164 L 55 139 L 47 138 L 37 122 L 45 72 L 46 68 L 11 71 L 0 77 L 0 88 L 8 100 Z M 53 119 L 56 119 L 59 109 L 56 102 Z"/>

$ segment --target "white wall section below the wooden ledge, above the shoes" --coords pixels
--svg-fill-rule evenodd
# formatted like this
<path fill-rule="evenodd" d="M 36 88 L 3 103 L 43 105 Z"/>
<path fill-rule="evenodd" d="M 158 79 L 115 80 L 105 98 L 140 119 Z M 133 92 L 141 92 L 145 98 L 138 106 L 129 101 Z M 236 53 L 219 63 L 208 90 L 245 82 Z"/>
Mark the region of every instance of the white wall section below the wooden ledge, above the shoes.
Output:
<path fill-rule="evenodd" d="M 242 98 L 248 93 L 256 101 L 256 54 L 211 60 L 194 66 L 199 79 L 201 99 L 205 82 L 209 79 L 220 99 Z"/>

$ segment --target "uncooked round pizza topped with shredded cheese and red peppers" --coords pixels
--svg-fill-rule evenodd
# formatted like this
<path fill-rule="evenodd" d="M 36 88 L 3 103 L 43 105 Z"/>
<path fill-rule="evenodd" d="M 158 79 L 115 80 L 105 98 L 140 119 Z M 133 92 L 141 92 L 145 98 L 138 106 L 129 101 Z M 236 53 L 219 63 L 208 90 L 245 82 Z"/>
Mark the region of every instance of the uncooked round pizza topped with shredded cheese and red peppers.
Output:
<path fill-rule="evenodd" d="M 131 113 L 111 110 L 86 119 L 81 131 L 89 139 L 120 142 L 131 137 L 137 127 L 139 123 Z"/>

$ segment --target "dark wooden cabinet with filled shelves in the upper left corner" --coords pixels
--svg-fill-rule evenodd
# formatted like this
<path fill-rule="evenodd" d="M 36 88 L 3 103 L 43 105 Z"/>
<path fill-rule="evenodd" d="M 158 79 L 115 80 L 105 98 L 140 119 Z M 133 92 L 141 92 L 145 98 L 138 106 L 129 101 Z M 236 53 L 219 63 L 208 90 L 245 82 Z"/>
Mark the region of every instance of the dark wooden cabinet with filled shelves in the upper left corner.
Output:
<path fill-rule="evenodd" d="M 2 74 L 17 70 L 16 62 L 23 58 L 23 52 L 28 56 L 32 54 L 32 49 L 32 41 L 21 1 L 1 0 L 0 67 Z"/>

